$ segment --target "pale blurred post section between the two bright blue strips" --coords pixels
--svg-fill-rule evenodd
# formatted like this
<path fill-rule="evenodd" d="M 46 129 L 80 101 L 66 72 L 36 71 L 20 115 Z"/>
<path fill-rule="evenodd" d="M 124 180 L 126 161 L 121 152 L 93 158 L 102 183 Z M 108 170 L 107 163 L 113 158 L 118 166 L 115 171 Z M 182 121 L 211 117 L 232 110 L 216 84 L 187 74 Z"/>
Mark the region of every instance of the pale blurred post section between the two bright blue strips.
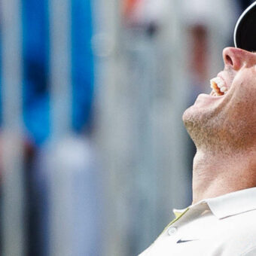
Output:
<path fill-rule="evenodd" d="M 50 99 L 52 138 L 59 139 L 71 127 L 71 0 L 49 1 Z"/>

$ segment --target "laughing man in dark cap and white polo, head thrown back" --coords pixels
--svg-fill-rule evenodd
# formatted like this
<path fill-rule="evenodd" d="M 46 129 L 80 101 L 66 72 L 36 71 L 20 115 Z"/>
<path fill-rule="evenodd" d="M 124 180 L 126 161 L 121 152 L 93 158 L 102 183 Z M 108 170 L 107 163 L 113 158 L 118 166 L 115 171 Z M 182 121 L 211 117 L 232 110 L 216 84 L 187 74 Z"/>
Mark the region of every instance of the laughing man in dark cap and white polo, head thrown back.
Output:
<path fill-rule="evenodd" d="M 193 203 L 141 256 L 256 255 L 256 2 L 223 50 L 212 92 L 183 115 L 197 146 Z"/>

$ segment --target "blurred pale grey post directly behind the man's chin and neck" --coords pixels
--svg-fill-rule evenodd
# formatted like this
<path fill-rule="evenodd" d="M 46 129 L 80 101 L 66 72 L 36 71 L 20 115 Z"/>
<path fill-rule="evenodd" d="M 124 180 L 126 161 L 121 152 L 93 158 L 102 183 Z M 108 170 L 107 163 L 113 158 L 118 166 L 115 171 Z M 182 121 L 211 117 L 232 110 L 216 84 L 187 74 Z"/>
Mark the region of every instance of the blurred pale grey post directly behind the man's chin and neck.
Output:
<path fill-rule="evenodd" d="M 184 208 L 190 203 L 190 166 L 187 163 L 187 137 L 182 122 L 182 114 L 187 108 L 187 73 L 184 69 L 186 38 L 185 30 L 182 23 L 182 4 L 179 0 L 172 0 L 172 15 L 170 15 L 169 41 L 172 42 L 169 48 L 169 82 L 172 84 L 171 101 L 169 108 L 171 113 L 171 130 L 170 130 L 170 152 L 171 166 L 169 172 L 170 199 L 172 200 L 172 208 Z M 182 189 L 181 189 L 182 188 Z"/>

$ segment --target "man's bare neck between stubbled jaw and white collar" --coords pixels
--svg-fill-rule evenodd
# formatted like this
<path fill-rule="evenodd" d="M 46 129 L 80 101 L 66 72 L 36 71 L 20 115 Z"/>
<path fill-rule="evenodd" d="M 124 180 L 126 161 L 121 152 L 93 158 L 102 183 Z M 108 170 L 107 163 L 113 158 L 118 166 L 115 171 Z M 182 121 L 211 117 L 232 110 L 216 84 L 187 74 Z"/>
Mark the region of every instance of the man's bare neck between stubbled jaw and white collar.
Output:
<path fill-rule="evenodd" d="M 256 186 L 256 150 L 212 154 L 197 151 L 193 166 L 193 204 Z"/>

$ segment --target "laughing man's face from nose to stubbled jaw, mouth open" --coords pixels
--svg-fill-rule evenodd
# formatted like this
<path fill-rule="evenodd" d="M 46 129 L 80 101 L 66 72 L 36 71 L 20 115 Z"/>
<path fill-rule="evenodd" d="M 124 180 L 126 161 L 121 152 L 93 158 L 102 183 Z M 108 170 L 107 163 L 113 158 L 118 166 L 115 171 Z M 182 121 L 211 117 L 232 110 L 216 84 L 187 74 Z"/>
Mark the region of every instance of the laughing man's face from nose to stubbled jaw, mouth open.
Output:
<path fill-rule="evenodd" d="M 183 115 L 197 148 L 240 150 L 256 142 L 256 53 L 229 47 L 223 59 L 213 83 L 223 88 L 200 94 Z"/>

